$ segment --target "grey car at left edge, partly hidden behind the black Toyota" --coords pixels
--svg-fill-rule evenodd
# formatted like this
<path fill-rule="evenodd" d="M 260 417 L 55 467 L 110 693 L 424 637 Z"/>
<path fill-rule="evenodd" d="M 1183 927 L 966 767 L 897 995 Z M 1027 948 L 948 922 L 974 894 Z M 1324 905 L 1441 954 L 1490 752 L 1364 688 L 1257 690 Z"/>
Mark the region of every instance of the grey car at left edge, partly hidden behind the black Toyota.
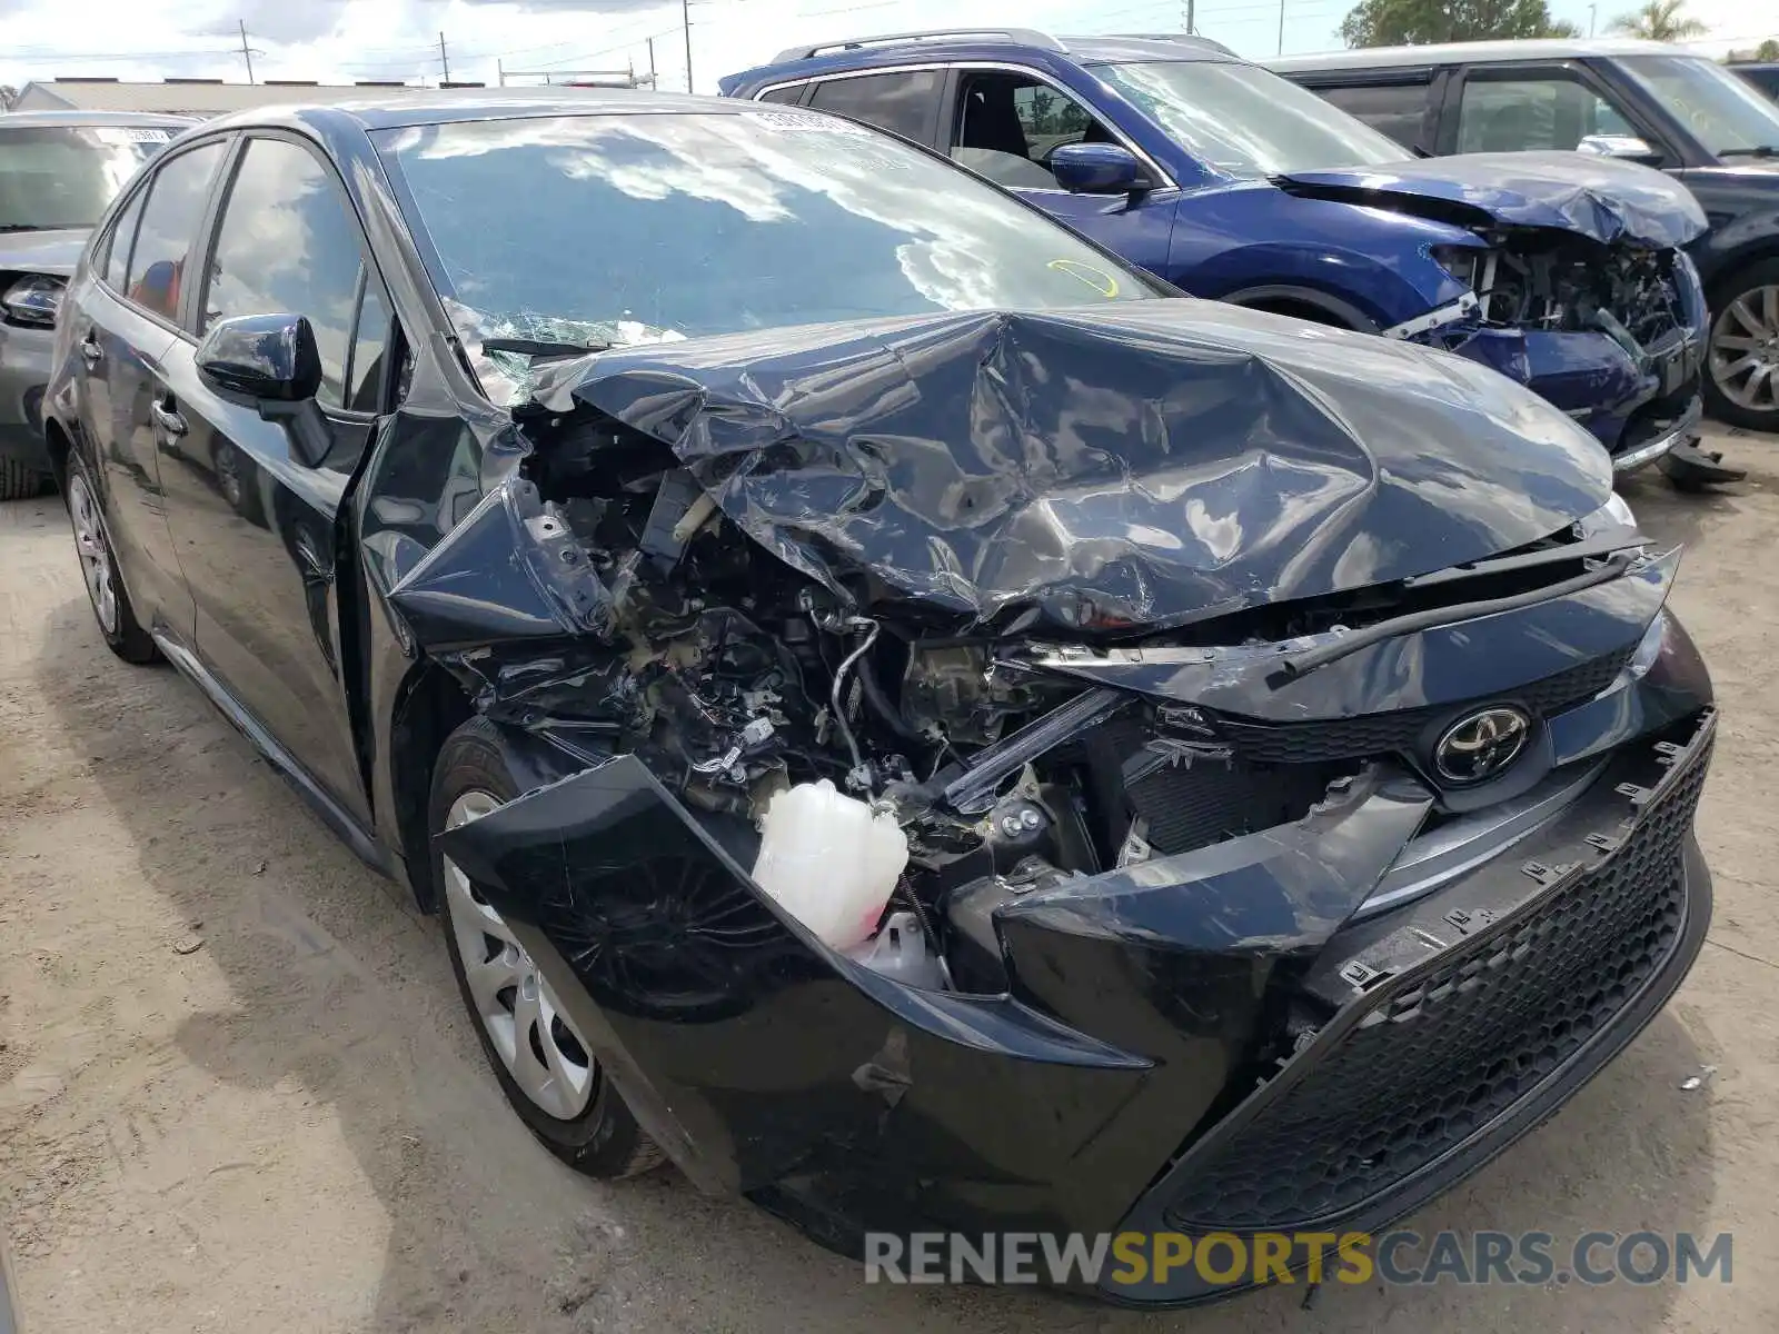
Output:
<path fill-rule="evenodd" d="M 192 121 L 132 112 L 0 116 L 0 500 L 50 477 L 43 386 L 62 286 L 105 206 Z"/>

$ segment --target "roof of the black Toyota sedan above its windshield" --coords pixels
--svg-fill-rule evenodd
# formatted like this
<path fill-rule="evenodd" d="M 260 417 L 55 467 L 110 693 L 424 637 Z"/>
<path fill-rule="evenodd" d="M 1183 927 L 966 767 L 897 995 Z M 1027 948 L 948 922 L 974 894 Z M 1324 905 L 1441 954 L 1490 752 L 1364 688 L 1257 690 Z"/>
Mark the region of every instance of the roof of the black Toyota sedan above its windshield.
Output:
<path fill-rule="evenodd" d="M 630 87 L 507 87 L 507 89 L 415 89 L 411 94 L 350 98 L 347 101 L 253 107 L 205 123 L 205 128 L 238 130 L 247 126 L 308 125 L 338 130 L 400 130 L 415 125 L 454 121 L 518 121 L 544 116 L 646 116 L 664 112 L 701 112 L 733 116 L 744 110 L 729 98 L 687 96 L 685 92 L 649 92 Z"/>

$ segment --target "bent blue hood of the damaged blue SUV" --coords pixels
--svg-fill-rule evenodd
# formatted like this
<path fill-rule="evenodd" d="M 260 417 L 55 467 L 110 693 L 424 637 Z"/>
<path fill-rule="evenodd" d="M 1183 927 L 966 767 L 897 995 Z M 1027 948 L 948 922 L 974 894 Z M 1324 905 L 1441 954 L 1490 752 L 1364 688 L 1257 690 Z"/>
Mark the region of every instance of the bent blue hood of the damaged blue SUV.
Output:
<path fill-rule="evenodd" d="M 1635 162 L 1587 153 L 1461 153 L 1279 176 L 1292 194 L 1375 203 L 1480 226 L 1562 228 L 1598 242 L 1685 245 L 1704 235 L 1692 192 Z"/>

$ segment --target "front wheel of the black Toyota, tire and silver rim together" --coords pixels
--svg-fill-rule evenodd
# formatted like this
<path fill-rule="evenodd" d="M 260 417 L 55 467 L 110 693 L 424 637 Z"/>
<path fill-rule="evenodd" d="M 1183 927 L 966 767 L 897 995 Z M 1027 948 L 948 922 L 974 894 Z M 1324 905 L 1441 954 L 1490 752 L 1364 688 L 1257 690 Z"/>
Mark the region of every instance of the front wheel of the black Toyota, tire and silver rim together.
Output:
<path fill-rule="evenodd" d="M 518 795 L 519 783 L 500 731 L 486 719 L 471 719 L 439 749 L 427 829 L 436 836 Z M 436 838 L 429 838 L 429 845 L 457 991 L 470 1010 L 482 1055 L 519 1121 L 550 1153 L 587 1176 L 630 1177 L 658 1165 L 660 1147 L 642 1131 L 623 1096 L 566 1025 L 548 985 L 500 914 L 445 859 Z M 496 985 L 509 976 L 512 985 Z M 585 1090 L 573 1078 L 582 1069 Z M 571 1074 L 551 1078 L 557 1071 Z"/>

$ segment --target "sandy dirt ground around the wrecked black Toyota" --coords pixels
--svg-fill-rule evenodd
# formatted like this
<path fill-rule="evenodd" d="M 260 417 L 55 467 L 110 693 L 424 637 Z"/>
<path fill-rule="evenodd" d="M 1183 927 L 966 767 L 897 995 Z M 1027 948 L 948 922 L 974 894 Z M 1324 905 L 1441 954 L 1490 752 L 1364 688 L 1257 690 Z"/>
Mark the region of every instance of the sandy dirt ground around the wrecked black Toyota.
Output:
<path fill-rule="evenodd" d="M 434 925 L 174 672 L 105 653 L 41 500 L 0 507 L 0 1236 L 27 1334 L 1779 1329 L 1779 441 L 1722 443 L 1745 486 L 1628 491 L 1690 546 L 1676 601 L 1726 715 L 1710 943 L 1614 1067 L 1416 1226 L 1733 1229 L 1729 1286 L 1151 1318 L 868 1290 L 671 1170 L 580 1179 L 505 1113 Z"/>

